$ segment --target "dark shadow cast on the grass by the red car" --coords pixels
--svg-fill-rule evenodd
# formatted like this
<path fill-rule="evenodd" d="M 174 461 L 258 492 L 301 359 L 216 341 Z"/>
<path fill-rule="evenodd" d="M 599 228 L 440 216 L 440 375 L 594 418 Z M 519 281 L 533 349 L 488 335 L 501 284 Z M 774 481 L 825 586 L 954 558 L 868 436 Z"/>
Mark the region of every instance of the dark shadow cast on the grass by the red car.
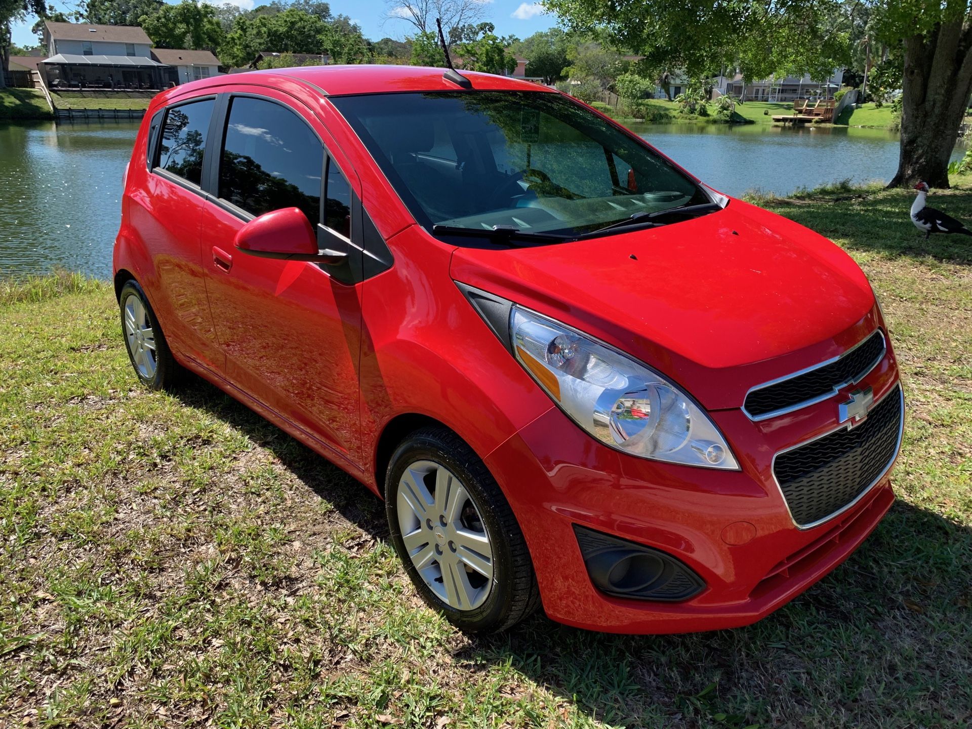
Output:
<path fill-rule="evenodd" d="M 380 501 L 290 435 L 201 380 L 180 397 L 267 448 L 373 538 L 388 537 Z M 503 635 L 470 638 L 454 670 L 509 665 L 612 725 L 964 725 L 969 564 L 970 530 L 898 502 L 844 566 L 755 625 L 615 636 L 538 612 Z M 525 703 L 536 700 L 524 690 Z"/>

